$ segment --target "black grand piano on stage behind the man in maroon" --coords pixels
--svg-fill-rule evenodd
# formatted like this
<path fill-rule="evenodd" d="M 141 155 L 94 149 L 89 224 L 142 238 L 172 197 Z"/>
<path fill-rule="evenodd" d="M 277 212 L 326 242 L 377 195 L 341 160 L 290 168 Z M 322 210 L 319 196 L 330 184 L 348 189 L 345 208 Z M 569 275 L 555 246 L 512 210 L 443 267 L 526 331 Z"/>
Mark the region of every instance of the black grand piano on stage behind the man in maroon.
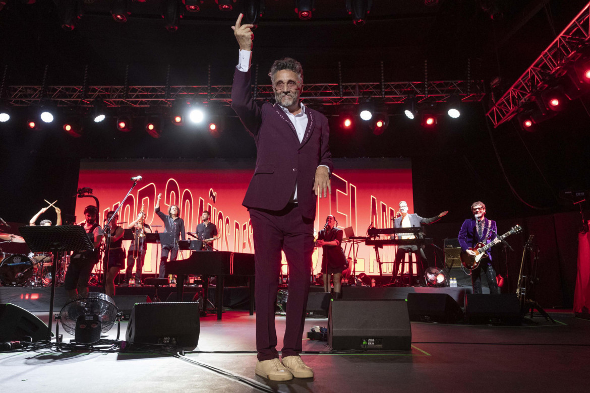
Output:
<path fill-rule="evenodd" d="M 203 283 L 203 311 L 207 309 L 209 277 L 215 276 L 215 306 L 217 319 L 221 319 L 224 277 L 248 276 L 250 286 L 250 315 L 254 314 L 254 254 L 231 251 L 194 251 L 186 259 L 166 262 L 166 274 L 176 275 L 177 299 L 182 299 L 185 275 L 200 275 Z M 179 300 L 182 301 L 182 300 Z"/>

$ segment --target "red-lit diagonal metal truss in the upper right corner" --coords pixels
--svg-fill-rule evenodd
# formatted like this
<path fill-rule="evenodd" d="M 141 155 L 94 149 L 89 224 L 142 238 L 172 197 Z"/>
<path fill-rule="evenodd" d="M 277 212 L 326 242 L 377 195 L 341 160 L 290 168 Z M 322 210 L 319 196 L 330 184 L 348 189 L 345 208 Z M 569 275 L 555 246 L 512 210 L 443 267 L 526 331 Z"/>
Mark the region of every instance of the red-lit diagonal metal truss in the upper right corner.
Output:
<path fill-rule="evenodd" d="M 553 42 L 530 65 L 486 114 L 494 128 L 517 114 L 522 104 L 531 100 L 539 87 L 552 78 L 563 66 L 578 60 L 578 51 L 588 46 L 590 39 L 590 3 L 576 15 Z"/>

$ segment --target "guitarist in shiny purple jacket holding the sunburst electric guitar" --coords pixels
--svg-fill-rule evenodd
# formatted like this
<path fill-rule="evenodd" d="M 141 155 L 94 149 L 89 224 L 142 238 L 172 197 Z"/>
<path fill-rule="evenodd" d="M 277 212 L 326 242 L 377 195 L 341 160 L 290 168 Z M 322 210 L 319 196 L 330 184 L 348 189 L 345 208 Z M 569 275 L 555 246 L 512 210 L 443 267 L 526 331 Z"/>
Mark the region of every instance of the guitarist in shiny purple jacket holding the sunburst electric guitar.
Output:
<path fill-rule="evenodd" d="M 477 243 L 500 243 L 500 239 L 496 237 L 496 222 L 486 218 L 486 205 L 483 202 L 474 202 L 471 204 L 471 213 L 473 219 L 468 219 L 461 225 L 459 231 L 459 244 L 461 250 L 467 252 L 469 255 L 475 256 L 476 253 L 470 248 L 473 248 Z M 489 230 L 491 229 L 491 231 Z M 487 285 L 490 287 L 490 294 L 495 295 L 500 293 L 498 283 L 496 281 L 496 270 L 491 264 L 491 256 L 480 260 L 479 265 L 471 270 L 471 285 L 473 286 L 473 293 L 482 293 L 481 291 L 481 269 L 484 270 L 487 278 Z"/>

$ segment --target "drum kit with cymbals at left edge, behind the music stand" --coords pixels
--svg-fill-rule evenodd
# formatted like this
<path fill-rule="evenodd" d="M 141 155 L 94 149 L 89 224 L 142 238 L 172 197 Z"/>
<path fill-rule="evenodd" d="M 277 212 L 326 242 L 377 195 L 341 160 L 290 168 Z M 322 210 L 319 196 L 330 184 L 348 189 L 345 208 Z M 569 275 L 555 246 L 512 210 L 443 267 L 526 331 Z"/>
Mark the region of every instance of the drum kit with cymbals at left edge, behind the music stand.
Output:
<path fill-rule="evenodd" d="M 2 243 L 24 243 L 22 236 L 11 233 L 0 233 Z M 64 282 L 65 272 L 70 265 L 70 256 L 61 258 L 56 267 L 56 285 Z M 51 286 L 51 267 L 53 255 L 51 253 L 11 254 L 0 249 L 0 282 L 4 286 Z"/>

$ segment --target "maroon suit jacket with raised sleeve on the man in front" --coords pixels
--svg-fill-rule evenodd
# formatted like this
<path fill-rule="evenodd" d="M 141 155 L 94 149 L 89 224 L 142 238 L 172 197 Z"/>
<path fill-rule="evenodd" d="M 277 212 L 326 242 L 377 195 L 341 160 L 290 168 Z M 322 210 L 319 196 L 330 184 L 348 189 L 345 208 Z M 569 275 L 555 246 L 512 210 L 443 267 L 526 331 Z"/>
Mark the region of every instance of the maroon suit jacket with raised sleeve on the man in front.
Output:
<path fill-rule="evenodd" d="M 235 69 L 231 107 L 254 137 L 256 168 L 242 204 L 254 209 L 281 210 L 297 184 L 297 202 L 303 217 L 316 216 L 313 183 L 317 166 L 333 170 L 326 116 L 306 108 L 307 128 L 300 143 L 289 117 L 277 104 L 252 99 L 250 71 Z"/>

